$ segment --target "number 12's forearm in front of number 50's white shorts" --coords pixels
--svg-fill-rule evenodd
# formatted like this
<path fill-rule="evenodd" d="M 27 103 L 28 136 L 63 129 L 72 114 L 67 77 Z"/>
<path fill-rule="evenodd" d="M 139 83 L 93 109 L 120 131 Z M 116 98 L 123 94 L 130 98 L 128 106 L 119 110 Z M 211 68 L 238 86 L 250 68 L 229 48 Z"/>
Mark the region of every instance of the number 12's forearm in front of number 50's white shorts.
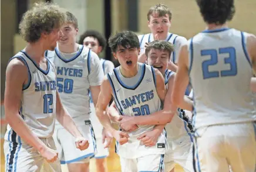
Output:
<path fill-rule="evenodd" d="M 74 137 L 82 137 L 82 134 L 79 132 L 78 128 L 75 125 L 75 122 L 68 114 L 66 109 L 63 107 L 59 113 L 56 113 L 56 118 L 59 123 Z"/>

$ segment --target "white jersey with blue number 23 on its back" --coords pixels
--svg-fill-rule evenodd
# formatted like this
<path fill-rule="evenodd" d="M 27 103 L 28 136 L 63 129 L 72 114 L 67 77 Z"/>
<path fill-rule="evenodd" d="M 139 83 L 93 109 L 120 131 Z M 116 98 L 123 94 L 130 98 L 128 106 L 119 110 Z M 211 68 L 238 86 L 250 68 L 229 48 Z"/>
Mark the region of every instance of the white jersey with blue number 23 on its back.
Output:
<path fill-rule="evenodd" d="M 196 129 L 256 120 L 246 40 L 247 33 L 228 28 L 206 30 L 189 40 Z"/>

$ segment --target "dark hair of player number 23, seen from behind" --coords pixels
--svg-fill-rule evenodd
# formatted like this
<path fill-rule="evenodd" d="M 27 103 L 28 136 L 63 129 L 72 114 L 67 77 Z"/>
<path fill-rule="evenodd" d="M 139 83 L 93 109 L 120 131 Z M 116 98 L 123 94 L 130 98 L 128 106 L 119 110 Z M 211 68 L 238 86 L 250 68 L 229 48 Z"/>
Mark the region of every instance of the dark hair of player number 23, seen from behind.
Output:
<path fill-rule="evenodd" d="M 232 20 L 235 13 L 234 0 L 196 0 L 206 23 L 223 25 Z"/>

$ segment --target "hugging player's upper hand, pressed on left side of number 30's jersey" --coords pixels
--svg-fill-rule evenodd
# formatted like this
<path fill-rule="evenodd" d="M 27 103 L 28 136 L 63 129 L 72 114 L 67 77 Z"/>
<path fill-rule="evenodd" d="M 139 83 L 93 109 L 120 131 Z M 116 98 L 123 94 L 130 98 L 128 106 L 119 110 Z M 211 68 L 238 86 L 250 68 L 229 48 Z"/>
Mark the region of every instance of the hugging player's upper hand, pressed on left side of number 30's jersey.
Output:
<path fill-rule="evenodd" d="M 120 116 L 118 121 L 120 128 L 126 132 L 133 132 L 139 128 L 130 116 Z"/>

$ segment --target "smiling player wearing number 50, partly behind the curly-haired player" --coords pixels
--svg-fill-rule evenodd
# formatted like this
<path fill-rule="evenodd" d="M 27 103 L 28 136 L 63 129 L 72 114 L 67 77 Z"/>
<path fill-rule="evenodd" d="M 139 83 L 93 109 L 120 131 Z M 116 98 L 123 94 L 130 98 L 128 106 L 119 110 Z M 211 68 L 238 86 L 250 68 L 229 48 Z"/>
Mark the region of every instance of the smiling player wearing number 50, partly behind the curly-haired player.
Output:
<path fill-rule="evenodd" d="M 92 50 L 76 43 L 78 20 L 66 12 L 66 20 L 61 27 L 63 35 L 54 51 L 46 51 L 46 56 L 56 66 L 57 87 L 60 98 L 72 115 L 73 121 L 82 135 L 91 143 L 88 149 L 80 152 L 73 149 L 75 137 L 56 123 L 55 139 L 60 163 L 68 164 L 69 171 L 89 171 L 90 157 L 96 153 L 96 140 L 90 123 L 90 97 L 97 102 L 103 70 L 99 57 Z"/>

